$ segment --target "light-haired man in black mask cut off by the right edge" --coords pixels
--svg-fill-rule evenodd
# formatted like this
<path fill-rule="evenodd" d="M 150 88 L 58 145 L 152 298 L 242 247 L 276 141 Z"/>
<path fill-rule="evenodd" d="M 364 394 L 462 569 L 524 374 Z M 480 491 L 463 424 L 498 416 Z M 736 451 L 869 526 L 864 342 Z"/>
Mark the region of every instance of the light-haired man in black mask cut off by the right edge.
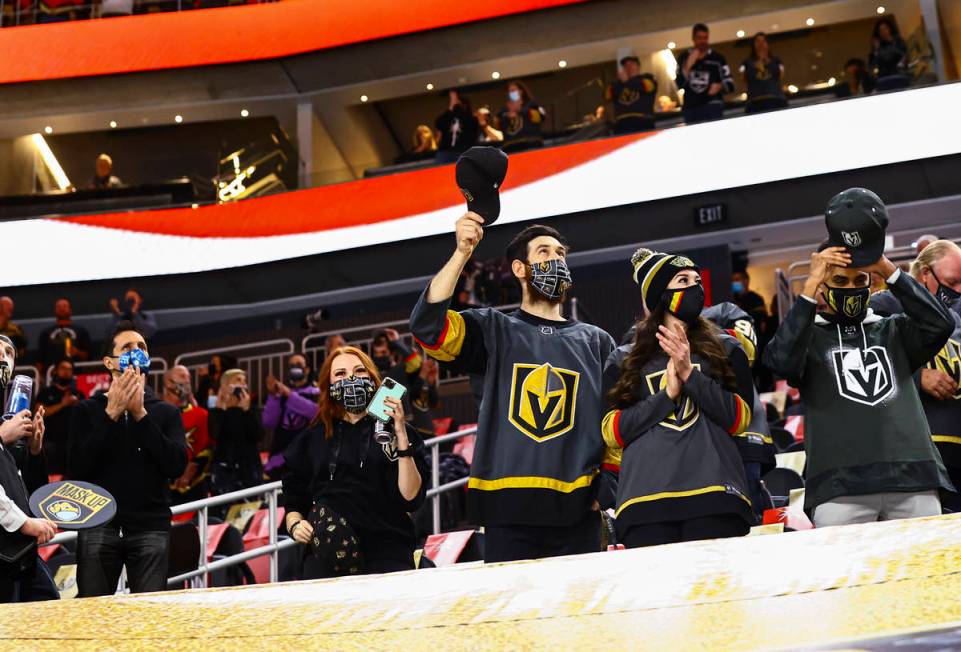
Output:
<path fill-rule="evenodd" d="M 961 248 L 950 240 L 935 240 L 911 263 L 911 276 L 938 301 L 954 322 L 944 347 L 914 374 L 921 405 L 931 427 L 931 438 L 956 489 L 961 489 Z M 897 315 L 904 307 L 890 290 L 871 297 L 882 316 Z M 961 494 L 941 491 L 941 507 L 961 512 Z"/>

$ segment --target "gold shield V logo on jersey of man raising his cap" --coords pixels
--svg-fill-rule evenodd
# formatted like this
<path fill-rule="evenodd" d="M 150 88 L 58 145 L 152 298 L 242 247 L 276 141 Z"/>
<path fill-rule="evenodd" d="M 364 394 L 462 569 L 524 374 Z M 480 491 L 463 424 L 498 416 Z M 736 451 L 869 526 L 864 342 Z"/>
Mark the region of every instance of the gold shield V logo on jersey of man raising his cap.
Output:
<path fill-rule="evenodd" d="M 515 364 L 509 421 L 540 443 L 574 427 L 580 374 L 550 364 Z"/>

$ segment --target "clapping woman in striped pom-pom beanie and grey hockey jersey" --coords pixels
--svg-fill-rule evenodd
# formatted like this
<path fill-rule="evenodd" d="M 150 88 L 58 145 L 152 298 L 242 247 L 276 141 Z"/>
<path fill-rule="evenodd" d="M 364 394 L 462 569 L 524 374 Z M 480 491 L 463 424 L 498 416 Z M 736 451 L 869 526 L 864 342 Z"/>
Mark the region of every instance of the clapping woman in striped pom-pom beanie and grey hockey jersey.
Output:
<path fill-rule="evenodd" d="M 631 258 L 645 317 L 604 369 L 602 432 L 623 449 L 615 524 L 628 548 L 743 536 L 754 523 L 735 437 L 751 423 L 751 365 L 701 316 L 704 287 L 685 256 Z"/>

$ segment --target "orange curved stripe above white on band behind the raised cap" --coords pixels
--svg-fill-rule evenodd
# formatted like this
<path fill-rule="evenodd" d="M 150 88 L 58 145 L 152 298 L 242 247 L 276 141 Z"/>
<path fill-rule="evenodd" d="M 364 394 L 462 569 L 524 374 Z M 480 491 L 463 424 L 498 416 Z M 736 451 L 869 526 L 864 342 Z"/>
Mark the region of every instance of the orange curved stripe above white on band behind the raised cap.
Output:
<path fill-rule="evenodd" d="M 653 133 L 653 132 L 652 132 Z M 511 156 L 510 190 L 587 163 L 652 133 Z M 58 218 L 108 229 L 194 238 L 255 238 L 376 224 L 462 204 L 454 166 L 428 168 L 229 204 Z"/>

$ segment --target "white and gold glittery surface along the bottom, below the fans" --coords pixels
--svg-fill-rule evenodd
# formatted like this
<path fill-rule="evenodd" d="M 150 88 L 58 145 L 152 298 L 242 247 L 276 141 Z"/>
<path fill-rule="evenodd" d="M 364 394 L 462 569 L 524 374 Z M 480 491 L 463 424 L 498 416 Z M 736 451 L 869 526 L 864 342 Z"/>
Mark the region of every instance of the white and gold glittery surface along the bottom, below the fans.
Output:
<path fill-rule="evenodd" d="M 961 515 L 3 609 L 19 650 L 744 650 L 961 621 Z M 853 645 L 851 647 L 857 647 Z"/>

